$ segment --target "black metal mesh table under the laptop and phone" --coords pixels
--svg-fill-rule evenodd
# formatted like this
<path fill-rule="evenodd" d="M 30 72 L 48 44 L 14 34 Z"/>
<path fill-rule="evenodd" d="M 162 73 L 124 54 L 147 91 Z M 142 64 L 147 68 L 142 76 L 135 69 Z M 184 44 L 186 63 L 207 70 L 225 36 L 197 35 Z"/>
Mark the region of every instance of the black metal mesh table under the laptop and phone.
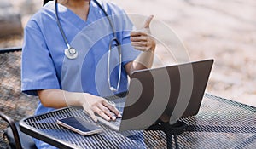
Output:
<path fill-rule="evenodd" d="M 143 136 L 147 148 L 166 148 L 163 131 L 144 130 L 119 134 L 104 126 L 99 135 L 82 136 L 59 127 L 61 117 L 88 118 L 81 109 L 68 107 L 43 115 L 28 117 L 20 122 L 21 131 L 60 148 L 138 148 L 132 137 Z M 256 108 L 206 94 L 200 112 L 181 119 L 187 124 L 177 135 L 179 148 L 255 148 Z M 134 135 L 131 135 L 133 133 Z M 127 137 L 131 135 L 130 137 Z M 172 141 L 172 139 L 169 139 Z M 170 145 L 170 142 L 168 142 Z M 172 145 L 172 144 L 171 144 Z M 169 146 L 172 148 L 172 146 Z M 173 146 L 174 147 L 174 146 Z"/>

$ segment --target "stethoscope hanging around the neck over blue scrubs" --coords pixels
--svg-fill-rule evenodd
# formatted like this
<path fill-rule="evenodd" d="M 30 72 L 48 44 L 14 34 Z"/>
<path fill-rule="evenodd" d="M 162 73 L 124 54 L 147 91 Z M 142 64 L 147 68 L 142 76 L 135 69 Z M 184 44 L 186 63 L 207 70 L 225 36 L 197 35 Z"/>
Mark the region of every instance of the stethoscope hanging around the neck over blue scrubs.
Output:
<path fill-rule="evenodd" d="M 121 72 L 122 72 L 122 54 L 121 54 L 121 46 L 120 46 L 120 43 L 119 43 L 119 40 L 117 38 L 117 35 L 116 35 L 116 31 L 114 29 L 114 26 L 113 26 L 113 22 L 112 20 L 110 20 L 107 12 L 102 8 L 102 5 L 100 3 L 98 3 L 96 0 L 94 0 L 94 2 L 96 3 L 96 5 L 102 9 L 102 12 L 105 14 L 105 16 L 107 17 L 108 19 L 108 22 L 112 28 L 112 31 L 113 31 L 113 38 L 110 40 L 109 44 L 108 44 L 108 70 L 107 70 L 107 73 L 108 73 L 108 86 L 109 86 L 109 89 L 113 92 L 116 92 L 119 90 L 119 85 L 120 85 L 120 80 L 121 80 Z M 61 27 L 61 23 L 60 23 L 60 20 L 59 20 L 59 16 L 58 16 L 58 7 L 57 7 L 57 0 L 55 0 L 55 18 L 56 18 L 56 21 L 57 21 L 57 25 L 60 29 L 60 32 L 61 32 L 61 36 L 63 37 L 63 40 L 64 42 L 66 43 L 67 45 L 67 49 L 65 49 L 65 55 L 68 59 L 76 59 L 78 56 L 79 56 L 79 52 L 77 51 L 77 49 L 74 49 L 73 47 L 70 46 L 70 44 L 68 43 L 67 41 L 67 37 Z M 112 44 L 115 43 L 114 45 L 118 48 L 118 51 L 119 51 L 119 80 L 118 80 L 118 84 L 117 84 L 117 87 L 114 88 L 111 86 L 111 83 L 110 83 L 110 55 L 111 55 L 111 49 L 112 49 Z"/>

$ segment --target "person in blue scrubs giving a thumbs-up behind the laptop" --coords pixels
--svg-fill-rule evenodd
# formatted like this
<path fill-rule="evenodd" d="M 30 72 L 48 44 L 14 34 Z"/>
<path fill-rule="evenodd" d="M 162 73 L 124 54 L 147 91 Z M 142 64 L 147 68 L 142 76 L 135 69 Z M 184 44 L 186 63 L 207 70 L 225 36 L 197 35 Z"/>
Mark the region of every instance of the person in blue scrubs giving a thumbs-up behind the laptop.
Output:
<path fill-rule="evenodd" d="M 127 91 L 131 72 L 152 66 L 155 42 L 145 32 L 132 32 L 131 21 L 123 9 L 99 1 L 113 19 L 122 47 L 122 71 L 119 90 Z M 55 19 L 55 3 L 49 2 L 34 14 L 25 28 L 22 51 L 21 89 L 27 95 L 38 95 L 36 114 L 65 106 L 82 106 L 97 121 L 95 113 L 107 120 L 121 117 L 119 111 L 102 96 L 113 94 L 108 86 L 108 45 L 113 32 L 106 15 L 93 0 L 60 0 L 57 5 L 60 23 L 67 41 L 79 56 L 70 60 Z M 153 16 L 145 22 L 149 29 Z M 119 54 L 112 50 L 110 83 L 119 81 Z M 112 113 L 115 113 L 113 116 Z M 38 148 L 50 148 L 36 140 Z M 53 147 L 54 148 L 54 147 Z"/>

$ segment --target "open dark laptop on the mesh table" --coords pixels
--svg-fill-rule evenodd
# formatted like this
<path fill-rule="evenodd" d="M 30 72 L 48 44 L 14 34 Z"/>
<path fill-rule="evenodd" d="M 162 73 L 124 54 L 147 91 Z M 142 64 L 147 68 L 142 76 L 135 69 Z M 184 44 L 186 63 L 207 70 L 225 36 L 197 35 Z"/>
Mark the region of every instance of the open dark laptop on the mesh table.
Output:
<path fill-rule="evenodd" d="M 198 113 L 213 60 L 194 61 L 133 72 L 129 93 L 109 100 L 122 117 L 100 123 L 115 131 L 142 130 L 156 123 L 174 124 Z"/>

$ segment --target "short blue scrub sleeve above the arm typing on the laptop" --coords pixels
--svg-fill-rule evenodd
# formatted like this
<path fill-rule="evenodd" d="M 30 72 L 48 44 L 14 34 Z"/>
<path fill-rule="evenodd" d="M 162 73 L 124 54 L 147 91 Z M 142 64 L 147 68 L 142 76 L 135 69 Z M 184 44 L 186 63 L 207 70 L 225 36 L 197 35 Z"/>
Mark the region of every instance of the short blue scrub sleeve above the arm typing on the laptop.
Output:
<path fill-rule="evenodd" d="M 34 20 L 25 28 L 22 51 L 21 89 L 28 95 L 37 95 L 38 89 L 60 89 L 55 65 L 47 49 L 42 32 Z"/>

